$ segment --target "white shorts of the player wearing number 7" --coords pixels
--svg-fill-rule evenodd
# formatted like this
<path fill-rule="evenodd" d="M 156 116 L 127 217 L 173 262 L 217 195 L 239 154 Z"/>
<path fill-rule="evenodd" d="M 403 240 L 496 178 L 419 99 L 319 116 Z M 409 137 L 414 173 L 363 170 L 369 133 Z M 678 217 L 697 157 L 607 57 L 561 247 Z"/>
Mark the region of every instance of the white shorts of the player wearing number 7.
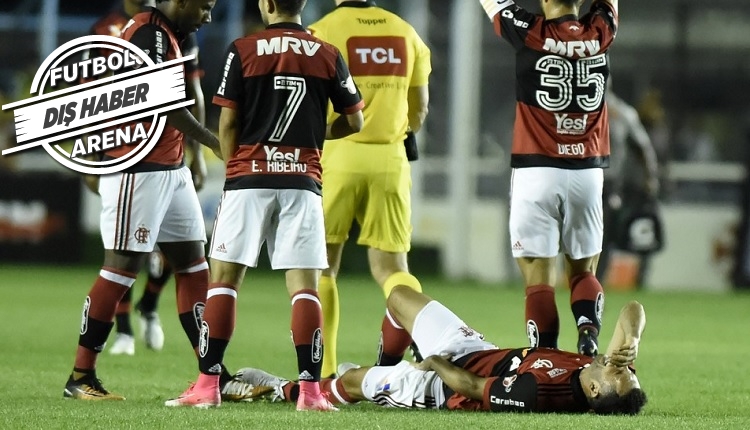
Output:
<path fill-rule="evenodd" d="M 328 268 L 321 197 L 296 189 L 225 191 L 210 257 L 256 267 L 264 242 L 274 270 Z"/>

